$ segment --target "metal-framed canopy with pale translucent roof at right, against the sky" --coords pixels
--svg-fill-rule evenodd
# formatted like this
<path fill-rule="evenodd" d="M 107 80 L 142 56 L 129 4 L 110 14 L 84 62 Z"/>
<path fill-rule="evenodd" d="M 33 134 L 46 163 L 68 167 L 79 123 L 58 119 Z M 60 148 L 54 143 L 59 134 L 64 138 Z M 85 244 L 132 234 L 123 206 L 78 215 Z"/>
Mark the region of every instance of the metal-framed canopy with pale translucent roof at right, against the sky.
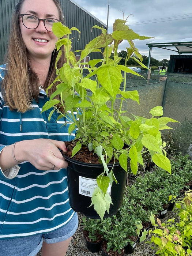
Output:
<path fill-rule="evenodd" d="M 192 53 L 192 38 L 184 38 L 180 40 L 170 41 L 161 41 L 161 40 L 154 40 L 147 44 L 149 47 L 149 56 L 148 56 L 148 68 L 150 66 L 150 59 L 151 59 L 151 51 L 152 48 L 161 48 L 165 50 L 171 50 L 173 52 L 177 52 L 178 54 L 182 53 Z M 175 49 L 173 49 L 175 48 Z"/>

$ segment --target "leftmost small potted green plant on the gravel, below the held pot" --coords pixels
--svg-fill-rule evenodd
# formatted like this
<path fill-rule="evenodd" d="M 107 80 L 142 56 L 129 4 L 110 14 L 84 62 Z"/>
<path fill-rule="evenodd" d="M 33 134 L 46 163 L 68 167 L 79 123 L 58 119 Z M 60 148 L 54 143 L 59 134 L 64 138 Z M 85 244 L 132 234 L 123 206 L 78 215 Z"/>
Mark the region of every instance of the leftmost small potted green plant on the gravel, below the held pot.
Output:
<path fill-rule="evenodd" d="M 87 249 L 90 252 L 101 251 L 101 244 L 103 237 L 101 235 L 101 219 L 90 219 L 87 217 L 82 218 L 83 234 L 86 240 Z"/>

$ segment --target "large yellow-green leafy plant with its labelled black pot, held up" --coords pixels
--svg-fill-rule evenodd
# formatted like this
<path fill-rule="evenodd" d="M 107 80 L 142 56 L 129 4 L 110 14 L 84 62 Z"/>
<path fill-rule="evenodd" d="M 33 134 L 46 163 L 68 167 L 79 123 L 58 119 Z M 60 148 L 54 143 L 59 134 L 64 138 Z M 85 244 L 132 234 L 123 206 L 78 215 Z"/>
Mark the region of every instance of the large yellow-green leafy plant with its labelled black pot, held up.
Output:
<path fill-rule="evenodd" d="M 125 25 L 126 21 L 115 20 L 111 34 L 102 27 L 94 26 L 93 29 L 101 30 L 101 35 L 80 50 L 79 61 L 71 51 L 70 36 L 72 31 L 80 31 L 75 27 L 69 29 L 60 22 L 53 24 L 53 33 L 59 38 L 56 43 L 59 51 L 57 60 L 63 53 L 60 48 L 64 45 L 66 63 L 60 69 L 56 63 L 58 76 L 47 93 L 52 86 L 56 90 L 42 112 L 52 108 L 50 116 L 54 111 L 59 112 L 59 118 L 63 118 L 61 120 L 68 125 L 69 134 L 76 129 L 75 141 L 66 142 L 69 157 L 65 155 L 65 158 L 70 162 L 67 174 L 69 203 L 75 211 L 90 218 L 102 219 L 104 215 L 107 217 L 117 212 L 123 200 L 128 162 L 136 174 L 138 163 L 143 165 L 143 147 L 149 150 L 156 165 L 171 172 L 161 131 L 168 128 L 167 123 L 176 121 L 162 117 L 161 106 L 150 111 L 151 118 L 132 115 L 133 120 L 127 115 L 133 111 L 122 108 L 129 99 L 139 103 L 138 91 L 126 91 L 126 75 L 122 73 L 139 76 L 126 66 L 128 59 L 134 53 L 137 58 L 131 58 L 145 67 L 133 39 L 149 38 L 134 33 Z M 117 54 L 123 40 L 128 42 L 125 65 L 119 64 L 122 58 Z M 100 52 L 101 59 L 82 63 L 91 52 Z M 89 72 L 86 76 L 83 74 L 85 69 Z"/>

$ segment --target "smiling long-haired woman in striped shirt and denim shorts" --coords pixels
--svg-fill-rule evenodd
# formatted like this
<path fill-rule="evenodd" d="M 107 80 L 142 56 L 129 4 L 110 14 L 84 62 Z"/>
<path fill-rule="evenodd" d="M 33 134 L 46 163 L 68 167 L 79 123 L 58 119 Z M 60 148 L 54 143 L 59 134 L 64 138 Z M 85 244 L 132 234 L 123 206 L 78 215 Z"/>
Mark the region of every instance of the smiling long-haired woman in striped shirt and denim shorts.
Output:
<path fill-rule="evenodd" d="M 1 256 L 34 256 L 41 246 L 42 256 L 64 256 L 78 227 L 61 153 L 75 134 L 65 120 L 41 114 L 56 77 L 52 24 L 59 21 L 58 0 L 20 0 L 12 17 L 7 64 L 0 66 Z"/>

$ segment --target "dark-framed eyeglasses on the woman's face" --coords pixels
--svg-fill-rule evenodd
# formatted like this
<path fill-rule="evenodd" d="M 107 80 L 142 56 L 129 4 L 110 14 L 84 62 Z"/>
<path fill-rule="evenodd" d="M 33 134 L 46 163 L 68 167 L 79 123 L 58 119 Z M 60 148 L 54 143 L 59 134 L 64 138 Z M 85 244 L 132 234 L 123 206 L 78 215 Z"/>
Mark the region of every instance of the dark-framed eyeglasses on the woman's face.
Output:
<path fill-rule="evenodd" d="M 53 23 L 61 22 L 59 19 L 52 19 L 52 18 L 39 19 L 36 16 L 31 14 L 20 14 L 20 17 L 22 18 L 23 25 L 27 29 L 37 29 L 37 27 L 39 26 L 40 20 L 42 20 L 46 30 L 49 32 L 53 32 L 52 31 Z"/>

